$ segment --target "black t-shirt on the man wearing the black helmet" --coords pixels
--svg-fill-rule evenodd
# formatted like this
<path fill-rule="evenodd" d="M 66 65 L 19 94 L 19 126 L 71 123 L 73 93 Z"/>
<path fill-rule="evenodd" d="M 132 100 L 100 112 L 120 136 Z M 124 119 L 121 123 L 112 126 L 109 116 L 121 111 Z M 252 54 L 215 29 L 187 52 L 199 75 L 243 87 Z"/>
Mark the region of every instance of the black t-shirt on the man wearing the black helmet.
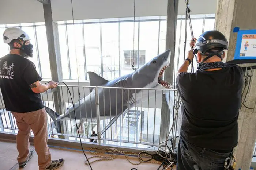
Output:
<path fill-rule="evenodd" d="M 212 150 L 231 150 L 238 142 L 243 72 L 231 65 L 221 70 L 180 73 L 181 136 Z"/>

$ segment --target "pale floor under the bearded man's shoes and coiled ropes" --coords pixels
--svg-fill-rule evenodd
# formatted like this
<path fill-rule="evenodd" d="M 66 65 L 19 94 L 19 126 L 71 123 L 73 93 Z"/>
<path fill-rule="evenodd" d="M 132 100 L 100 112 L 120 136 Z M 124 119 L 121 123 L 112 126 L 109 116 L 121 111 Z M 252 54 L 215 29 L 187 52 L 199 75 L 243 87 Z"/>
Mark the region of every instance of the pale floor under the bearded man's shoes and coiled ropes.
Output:
<path fill-rule="evenodd" d="M 30 146 L 34 150 L 34 146 Z M 52 159 L 64 158 L 65 163 L 58 170 L 90 170 L 89 166 L 84 163 L 84 155 L 80 151 L 66 150 L 60 148 L 50 147 Z M 0 141 L 0 170 L 18 170 L 16 157 L 18 151 L 16 150 L 16 143 Z M 87 157 L 91 157 L 86 153 Z M 138 162 L 135 157 L 129 157 L 132 162 Z M 34 156 L 23 170 L 38 170 L 37 154 L 34 151 Z M 92 159 L 93 160 L 93 159 Z M 131 170 L 136 168 L 138 170 L 157 170 L 159 164 L 141 163 L 140 165 L 132 165 L 127 159 L 118 155 L 114 160 L 99 161 L 91 164 L 93 170 Z"/>

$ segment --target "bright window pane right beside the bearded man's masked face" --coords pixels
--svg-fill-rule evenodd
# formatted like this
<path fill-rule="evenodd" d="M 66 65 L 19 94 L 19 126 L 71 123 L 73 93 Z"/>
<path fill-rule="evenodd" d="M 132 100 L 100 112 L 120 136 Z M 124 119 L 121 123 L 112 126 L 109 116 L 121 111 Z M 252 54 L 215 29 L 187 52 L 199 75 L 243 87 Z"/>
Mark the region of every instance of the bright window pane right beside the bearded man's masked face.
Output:
<path fill-rule="evenodd" d="M 40 68 L 38 66 L 38 54 L 37 54 L 37 46 L 35 43 L 35 34 L 34 34 L 34 27 L 22 27 L 21 28 L 23 31 L 25 31 L 29 37 L 31 38 L 30 43 L 33 45 L 33 57 L 29 57 L 28 59 L 31 60 L 37 69 L 37 72 L 40 73 Z M 40 76 L 42 76 L 40 74 Z"/>

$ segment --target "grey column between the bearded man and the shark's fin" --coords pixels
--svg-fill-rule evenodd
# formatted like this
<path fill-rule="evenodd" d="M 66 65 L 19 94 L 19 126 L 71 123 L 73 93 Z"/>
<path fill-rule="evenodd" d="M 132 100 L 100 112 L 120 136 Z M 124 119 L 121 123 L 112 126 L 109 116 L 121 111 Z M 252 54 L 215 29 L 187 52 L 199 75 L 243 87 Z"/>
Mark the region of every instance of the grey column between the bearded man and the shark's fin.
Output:
<path fill-rule="evenodd" d="M 44 7 L 46 35 L 47 35 L 48 51 L 49 51 L 49 59 L 50 59 L 50 69 L 52 73 L 52 80 L 58 82 L 63 80 L 58 25 L 52 20 L 52 7 L 50 4 L 50 0 L 48 0 L 48 2 L 49 3 L 47 4 L 44 3 L 43 7 Z M 54 101 L 55 112 L 57 112 L 58 114 L 62 114 L 64 111 L 63 111 L 63 103 L 61 103 L 61 95 L 60 95 L 59 88 L 57 88 L 57 90 L 53 92 L 53 101 Z"/>

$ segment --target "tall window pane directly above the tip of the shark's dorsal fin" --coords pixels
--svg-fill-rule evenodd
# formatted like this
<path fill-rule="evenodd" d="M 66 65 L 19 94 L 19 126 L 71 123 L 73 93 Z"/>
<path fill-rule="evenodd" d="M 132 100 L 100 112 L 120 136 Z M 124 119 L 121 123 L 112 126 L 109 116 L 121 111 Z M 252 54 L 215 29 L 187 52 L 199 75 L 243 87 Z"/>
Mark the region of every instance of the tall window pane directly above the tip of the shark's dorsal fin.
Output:
<path fill-rule="evenodd" d="M 101 76 L 101 41 L 99 24 L 84 24 L 84 47 L 86 71 L 95 72 Z M 89 80 L 88 74 L 87 80 Z"/>

